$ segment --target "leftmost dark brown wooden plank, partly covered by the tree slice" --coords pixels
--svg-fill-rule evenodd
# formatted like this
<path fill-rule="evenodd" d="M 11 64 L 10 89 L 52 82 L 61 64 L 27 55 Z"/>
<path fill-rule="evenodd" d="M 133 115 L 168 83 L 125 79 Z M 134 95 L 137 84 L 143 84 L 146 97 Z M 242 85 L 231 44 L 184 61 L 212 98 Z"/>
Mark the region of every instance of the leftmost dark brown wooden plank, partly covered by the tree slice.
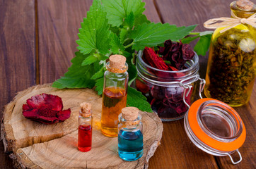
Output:
<path fill-rule="evenodd" d="M 35 3 L 0 1 L 0 119 L 16 92 L 35 85 Z M 0 168 L 13 168 L 0 143 Z"/>

